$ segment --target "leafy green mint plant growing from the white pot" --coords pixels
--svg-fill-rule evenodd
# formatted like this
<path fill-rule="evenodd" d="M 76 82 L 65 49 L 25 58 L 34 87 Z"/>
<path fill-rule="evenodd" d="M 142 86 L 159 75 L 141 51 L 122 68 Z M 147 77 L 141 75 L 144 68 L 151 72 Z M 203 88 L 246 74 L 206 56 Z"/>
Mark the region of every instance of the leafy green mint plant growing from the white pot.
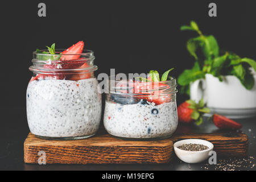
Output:
<path fill-rule="evenodd" d="M 241 58 L 236 53 L 223 51 L 220 53 L 217 40 L 213 35 L 204 35 L 199 30 L 196 22 L 191 21 L 190 26 L 181 26 L 180 30 L 195 31 L 199 36 L 187 41 L 187 50 L 195 59 L 192 69 L 185 69 L 178 77 L 181 85 L 181 93 L 189 95 L 190 82 L 205 78 L 205 74 L 212 74 L 222 81 L 222 76 L 236 76 L 246 89 L 254 86 L 254 77 L 250 71 L 252 67 L 256 71 L 255 60 Z"/>

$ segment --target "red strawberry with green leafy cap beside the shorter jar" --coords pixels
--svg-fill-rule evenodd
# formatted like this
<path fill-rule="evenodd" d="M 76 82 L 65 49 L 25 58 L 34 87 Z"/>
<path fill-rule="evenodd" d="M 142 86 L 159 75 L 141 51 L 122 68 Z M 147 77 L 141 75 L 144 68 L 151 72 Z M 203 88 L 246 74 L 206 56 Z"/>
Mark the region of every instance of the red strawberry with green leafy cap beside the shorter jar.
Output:
<path fill-rule="evenodd" d="M 204 107 L 203 99 L 198 104 L 195 101 L 188 100 L 177 107 L 177 114 L 181 123 L 196 122 L 197 125 L 200 125 L 203 122 L 203 114 L 209 112 L 210 109 Z"/>

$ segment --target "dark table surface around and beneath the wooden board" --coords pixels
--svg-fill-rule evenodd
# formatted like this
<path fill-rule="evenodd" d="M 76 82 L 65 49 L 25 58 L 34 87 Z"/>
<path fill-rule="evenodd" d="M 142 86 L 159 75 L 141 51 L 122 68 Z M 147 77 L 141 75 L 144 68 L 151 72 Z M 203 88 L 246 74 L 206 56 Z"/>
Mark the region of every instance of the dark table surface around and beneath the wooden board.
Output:
<path fill-rule="evenodd" d="M 256 170 L 256 118 L 236 119 L 243 127 L 241 131 L 249 137 L 248 158 L 218 158 L 217 165 L 208 161 L 199 164 L 187 164 L 179 159 L 169 164 L 25 164 L 23 162 L 23 142 L 29 133 L 26 108 L 1 107 L 2 126 L 0 127 L 0 169 L 1 170 Z M 200 126 L 179 125 L 187 132 L 212 133 L 218 129 L 204 118 Z M 236 165 L 234 165 L 236 164 Z"/>

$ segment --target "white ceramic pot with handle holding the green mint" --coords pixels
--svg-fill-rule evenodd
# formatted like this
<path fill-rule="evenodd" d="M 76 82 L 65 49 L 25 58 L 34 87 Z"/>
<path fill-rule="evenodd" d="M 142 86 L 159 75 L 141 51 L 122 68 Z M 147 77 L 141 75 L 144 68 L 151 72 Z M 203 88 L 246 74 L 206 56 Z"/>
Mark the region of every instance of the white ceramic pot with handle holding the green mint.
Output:
<path fill-rule="evenodd" d="M 256 76 L 254 88 L 247 90 L 235 76 L 224 76 L 223 81 L 210 74 L 205 80 L 191 83 L 190 97 L 198 102 L 204 98 L 211 113 L 229 118 L 247 118 L 256 115 Z"/>

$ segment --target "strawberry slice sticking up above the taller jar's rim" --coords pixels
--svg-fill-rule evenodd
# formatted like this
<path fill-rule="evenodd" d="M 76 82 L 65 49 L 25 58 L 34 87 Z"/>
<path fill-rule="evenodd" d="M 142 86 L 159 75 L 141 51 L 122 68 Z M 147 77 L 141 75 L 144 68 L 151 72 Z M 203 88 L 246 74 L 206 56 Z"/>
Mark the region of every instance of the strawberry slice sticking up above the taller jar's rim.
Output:
<path fill-rule="evenodd" d="M 75 45 L 69 47 L 65 51 L 61 52 L 62 56 L 60 57 L 60 60 L 75 60 L 79 59 L 80 55 L 72 55 L 72 54 L 80 54 L 82 53 L 82 50 L 84 49 L 84 42 L 79 41 Z M 65 55 L 65 54 L 71 54 L 71 55 Z"/>

